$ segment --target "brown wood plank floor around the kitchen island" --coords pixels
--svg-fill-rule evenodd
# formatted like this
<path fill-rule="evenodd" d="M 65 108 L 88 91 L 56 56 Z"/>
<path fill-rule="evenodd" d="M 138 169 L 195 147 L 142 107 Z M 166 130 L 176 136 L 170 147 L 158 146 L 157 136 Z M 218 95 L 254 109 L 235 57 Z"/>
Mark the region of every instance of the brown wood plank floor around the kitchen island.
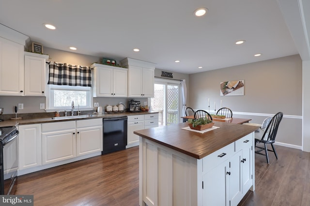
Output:
<path fill-rule="evenodd" d="M 310 153 L 276 149 L 269 164 L 255 155 L 255 192 L 240 206 L 310 206 Z M 34 206 L 138 206 L 139 148 L 20 176 L 16 194 L 33 194 Z"/>

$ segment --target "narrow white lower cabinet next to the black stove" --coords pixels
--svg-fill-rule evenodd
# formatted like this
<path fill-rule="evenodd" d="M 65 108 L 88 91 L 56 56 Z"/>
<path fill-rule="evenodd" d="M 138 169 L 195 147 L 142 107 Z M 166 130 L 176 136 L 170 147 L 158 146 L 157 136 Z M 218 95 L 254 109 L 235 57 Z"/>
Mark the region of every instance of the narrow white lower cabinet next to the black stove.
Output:
<path fill-rule="evenodd" d="M 42 165 L 41 124 L 18 126 L 18 169 Z"/>

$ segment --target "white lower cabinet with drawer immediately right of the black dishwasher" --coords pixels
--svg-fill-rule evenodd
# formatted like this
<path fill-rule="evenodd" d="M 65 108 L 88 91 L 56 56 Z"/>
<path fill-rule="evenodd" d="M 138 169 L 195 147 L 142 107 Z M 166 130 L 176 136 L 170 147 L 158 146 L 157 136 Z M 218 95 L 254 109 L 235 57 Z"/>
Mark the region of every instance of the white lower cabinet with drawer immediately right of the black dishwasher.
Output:
<path fill-rule="evenodd" d="M 144 129 L 144 115 L 131 115 L 127 117 L 127 147 L 139 145 L 139 136 L 136 130 Z"/>

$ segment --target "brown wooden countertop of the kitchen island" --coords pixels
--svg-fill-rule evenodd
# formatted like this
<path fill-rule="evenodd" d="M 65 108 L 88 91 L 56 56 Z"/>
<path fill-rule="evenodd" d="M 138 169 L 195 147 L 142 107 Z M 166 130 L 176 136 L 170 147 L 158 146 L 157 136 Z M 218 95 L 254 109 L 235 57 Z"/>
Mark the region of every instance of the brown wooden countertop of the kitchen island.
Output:
<path fill-rule="evenodd" d="M 259 128 L 249 125 L 215 122 L 214 126 L 219 128 L 202 134 L 181 129 L 187 126 L 188 124 L 185 122 L 139 130 L 134 133 L 196 159 L 202 159 Z"/>

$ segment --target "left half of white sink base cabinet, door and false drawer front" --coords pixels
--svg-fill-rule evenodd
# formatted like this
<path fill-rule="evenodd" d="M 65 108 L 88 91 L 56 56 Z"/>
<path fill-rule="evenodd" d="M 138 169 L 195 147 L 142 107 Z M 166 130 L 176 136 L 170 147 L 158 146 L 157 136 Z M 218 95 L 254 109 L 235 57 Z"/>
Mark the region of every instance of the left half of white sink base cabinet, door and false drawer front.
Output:
<path fill-rule="evenodd" d="M 76 121 L 42 124 L 42 163 L 76 157 Z"/>

